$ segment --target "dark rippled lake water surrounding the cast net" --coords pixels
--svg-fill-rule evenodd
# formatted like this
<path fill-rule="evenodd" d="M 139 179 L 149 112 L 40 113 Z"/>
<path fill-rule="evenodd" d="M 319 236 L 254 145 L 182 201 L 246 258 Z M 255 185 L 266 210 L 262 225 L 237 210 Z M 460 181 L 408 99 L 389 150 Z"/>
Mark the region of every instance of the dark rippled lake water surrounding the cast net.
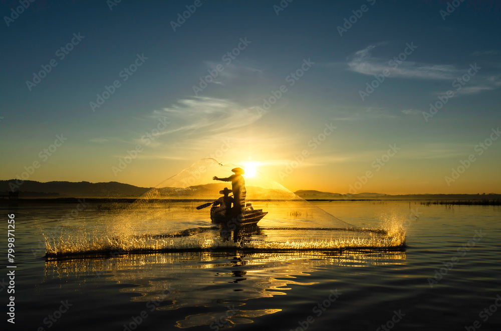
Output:
<path fill-rule="evenodd" d="M 315 204 L 358 226 L 399 222 L 407 247 L 343 253 L 156 252 L 46 261 L 42 232 L 57 226 L 75 205 L 0 205 L 4 219 L 15 214 L 18 265 L 16 324 L 6 322 L 2 329 L 376 330 L 382 324 L 396 330 L 499 329 L 501 207 Z M 87 210 L 96 208 L 90 204 Z M 85 223 L 78 226 L 92 237 Z M 4 321 L 7 271 L 0 275 Z"/>

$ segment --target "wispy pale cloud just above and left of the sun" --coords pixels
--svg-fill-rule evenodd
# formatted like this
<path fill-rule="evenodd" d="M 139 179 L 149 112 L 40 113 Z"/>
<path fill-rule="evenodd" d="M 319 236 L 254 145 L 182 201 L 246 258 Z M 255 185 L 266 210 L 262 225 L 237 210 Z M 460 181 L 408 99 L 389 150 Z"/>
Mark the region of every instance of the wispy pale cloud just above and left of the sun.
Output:
<path fill-rule="evenodd" d="M 222 144 L 231 145 L 231 153 L 241 150 L 241 147 L 233 148 L 237 145 L 247 145 L 245 151 L 248 151 L 249 142 L 255 140 L 252 135 L 248 136 L 248 132 L 256 131 L 256 125 L 252 124 L 261 116 L 254 107 L 245 107 L 226 98 L 196 96 L 179 99 L 167 108 L 154 110 L 147 117 L 152 122 L 151 127 L 156 127 L 158 119 L 165 119 L 169 124 L 149 141 L 138 158 L 198 159 L 214 153 Z M 144 144 L 144 140 L 136 135 L 129 144 Z M 263 143 L 257 145 L 263 146 Z"/>

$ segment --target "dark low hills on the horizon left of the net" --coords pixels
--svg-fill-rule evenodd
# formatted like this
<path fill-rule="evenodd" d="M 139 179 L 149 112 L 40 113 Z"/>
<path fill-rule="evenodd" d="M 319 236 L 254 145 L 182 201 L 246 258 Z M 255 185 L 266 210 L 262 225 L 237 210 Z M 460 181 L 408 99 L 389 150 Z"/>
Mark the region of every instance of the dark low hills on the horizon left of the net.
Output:
<path fill-rule="evenodd" d="M 0 192 L 11 191 L 9 182 L 15 179 L 0 180 Z M 139 197 L 149 190 L 116 181 L 91 183 L 88 181 L 48 181 L 25 180 L 18 188 L 19 197 Z"/>

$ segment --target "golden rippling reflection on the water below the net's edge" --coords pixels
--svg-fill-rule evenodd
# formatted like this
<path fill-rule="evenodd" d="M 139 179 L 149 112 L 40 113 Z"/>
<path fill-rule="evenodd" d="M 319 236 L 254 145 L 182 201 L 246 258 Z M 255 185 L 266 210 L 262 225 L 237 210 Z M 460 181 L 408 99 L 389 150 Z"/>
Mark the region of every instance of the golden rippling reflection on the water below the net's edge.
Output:
<path fill-rule="evenodd" d="M 180 316 L 177 327 L 212 325 L 215 328 L 250 323 L 259 316 L 280 311 L 246 309 L 245 305 L 247 300 L 254 298 L 286 295 L 291 284 L 315 284 L 298 281 L 297 276 L 310 275 L 319 266 L 367 267 L 403 264 L 405 260 L 404 251 L 116 255 L 47 261 L 44 281 L 73 279 L 80 282 L 81 287 L 89 282 L 123 284 L 121 291 L 130 293 L 131 301 L 162 302 L 156 308 L 159 311 L 195 306 L 208 308 L 208 312 Z"/>

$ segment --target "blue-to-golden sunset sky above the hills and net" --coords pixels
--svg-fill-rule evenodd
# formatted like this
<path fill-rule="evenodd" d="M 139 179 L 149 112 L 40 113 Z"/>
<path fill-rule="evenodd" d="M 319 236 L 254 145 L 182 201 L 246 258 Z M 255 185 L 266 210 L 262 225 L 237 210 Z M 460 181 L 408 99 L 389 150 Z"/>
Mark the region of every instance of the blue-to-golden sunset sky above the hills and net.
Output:
<path fill-rule="evenodd" d="M 22 3 L 0 179 L 151 187 L 213 157 L 293 191 L 499 193 L 499 1 Z"/>

